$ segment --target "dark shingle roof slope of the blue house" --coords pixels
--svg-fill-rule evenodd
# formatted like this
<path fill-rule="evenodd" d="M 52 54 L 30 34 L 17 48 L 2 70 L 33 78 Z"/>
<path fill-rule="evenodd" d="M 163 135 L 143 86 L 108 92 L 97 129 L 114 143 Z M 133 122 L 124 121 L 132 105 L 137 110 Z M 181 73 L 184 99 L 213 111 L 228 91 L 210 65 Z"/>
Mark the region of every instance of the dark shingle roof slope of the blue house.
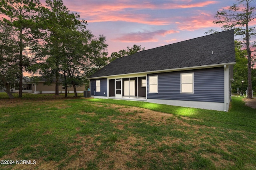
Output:
<path fill-rule="evenodd" d="M 118 58 L 89 78 L 234 62 L 234 31 L 229 30 Z"/>

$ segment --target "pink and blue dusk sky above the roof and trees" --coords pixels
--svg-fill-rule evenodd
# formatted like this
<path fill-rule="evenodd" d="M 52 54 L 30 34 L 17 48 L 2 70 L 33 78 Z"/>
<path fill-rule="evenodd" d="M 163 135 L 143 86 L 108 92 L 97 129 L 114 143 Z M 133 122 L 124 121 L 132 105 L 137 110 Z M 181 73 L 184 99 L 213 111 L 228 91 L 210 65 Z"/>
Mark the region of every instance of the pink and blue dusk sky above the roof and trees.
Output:
<path fill-rule="evenodd" d="M 220 30 L 217 11 L 235 0 L 63 0 L 96 36 L 104 35 L 108 56 L 132 45 L 160 47 Z"/>

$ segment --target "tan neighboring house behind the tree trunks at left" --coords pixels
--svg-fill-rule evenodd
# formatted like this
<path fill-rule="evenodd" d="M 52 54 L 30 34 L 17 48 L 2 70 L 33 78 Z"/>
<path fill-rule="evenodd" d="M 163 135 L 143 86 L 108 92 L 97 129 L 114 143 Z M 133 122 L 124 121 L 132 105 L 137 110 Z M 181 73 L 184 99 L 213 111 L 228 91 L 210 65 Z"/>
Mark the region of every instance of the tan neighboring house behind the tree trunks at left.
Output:
<path fill-rule="evenodd" d="M 31 83 L 32 84 L 32 93 L 36 93 L 36 94 L 55 93 L 55 84 L 56 84 L 55 78 L 53 78 L 50 81 L 50 85 L 46 84 L 47 80 L 44 77 L 40 77 L 36 82 L 33 82 L 33 80 L 30 80 L 30 82 L 32 82 Z M 62 82 L 61 78 L 60 78 L 60 82 Z M 84 90 L 85 90 L 85 84 L 83 86 L 76 87 L 77 93 L 83 93 Z M 73 86 L 68 86 L 67 91 L 69 93 L 74 93 Z M 65 93 L 65 86 L 62 86 L 62 84 L 59 85 L 59 93 Z"/>

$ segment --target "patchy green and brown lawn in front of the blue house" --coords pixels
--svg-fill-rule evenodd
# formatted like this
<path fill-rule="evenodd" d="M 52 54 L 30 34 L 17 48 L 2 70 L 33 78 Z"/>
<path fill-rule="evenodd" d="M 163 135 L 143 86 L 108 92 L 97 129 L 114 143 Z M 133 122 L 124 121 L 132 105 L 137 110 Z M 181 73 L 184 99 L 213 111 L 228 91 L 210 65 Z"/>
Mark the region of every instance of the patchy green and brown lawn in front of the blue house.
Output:
<path fill-rule="evenodd" d="M 17 170 L 255 170 L 256 109 L 240 97 L 222 112 L 3 93 L 0 160 Z"/>

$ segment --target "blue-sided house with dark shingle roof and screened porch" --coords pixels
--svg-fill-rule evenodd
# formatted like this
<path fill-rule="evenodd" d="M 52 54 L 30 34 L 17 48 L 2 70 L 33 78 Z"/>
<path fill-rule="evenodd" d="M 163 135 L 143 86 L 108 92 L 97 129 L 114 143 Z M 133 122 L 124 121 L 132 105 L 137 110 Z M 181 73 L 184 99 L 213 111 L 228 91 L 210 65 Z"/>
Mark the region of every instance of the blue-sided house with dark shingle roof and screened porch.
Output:
<path fill-rule="evenodd" d="M 88 79 L 94 98 L 228 111 L 235 63 L 229 30 L 118 58 Z"/>

